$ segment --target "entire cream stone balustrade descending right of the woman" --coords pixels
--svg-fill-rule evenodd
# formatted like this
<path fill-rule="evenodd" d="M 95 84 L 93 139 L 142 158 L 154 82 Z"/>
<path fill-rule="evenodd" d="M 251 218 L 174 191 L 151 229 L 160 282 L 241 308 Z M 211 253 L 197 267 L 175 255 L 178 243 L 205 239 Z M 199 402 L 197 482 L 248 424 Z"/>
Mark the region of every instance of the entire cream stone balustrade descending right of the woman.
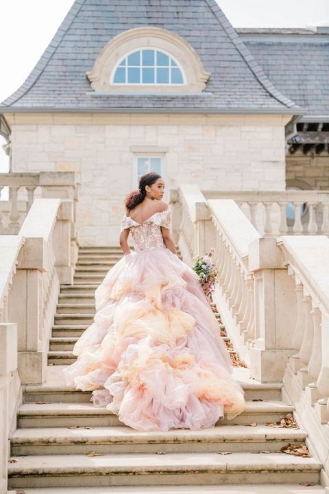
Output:
<path fill-rule="evenodd" d="M 295 406 L 328 480 L 329 239 L 261 237 L 236 201 L 206 199 L 188 187 L 171 194 L 178 243 L 188 245 L 188 259 L 215 247 L 213 299 L 228 336 L 251 377 L 282 382 L 282 396 Z M 200 217 L 191 213 L 194 200 L 202 204 Z M 175 231 L 177 214 L 185 217 L 182 231 Z M 197 246 L 195 232 L 209 220 L 213 231 Z"/>

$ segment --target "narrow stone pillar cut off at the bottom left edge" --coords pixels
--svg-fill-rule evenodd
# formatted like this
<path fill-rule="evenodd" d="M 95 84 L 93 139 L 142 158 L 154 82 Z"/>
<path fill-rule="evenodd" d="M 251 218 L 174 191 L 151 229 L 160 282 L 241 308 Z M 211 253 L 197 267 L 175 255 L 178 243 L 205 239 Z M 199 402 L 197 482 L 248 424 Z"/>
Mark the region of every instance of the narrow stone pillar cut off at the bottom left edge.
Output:
<path fill-rule="evenodd" d="M 0 324 L 0 494 L 7 492 L 8 458 L 10 455 L 9 385 L 10 373 L 17 368 L 17 327 L 16 324 Z"/>

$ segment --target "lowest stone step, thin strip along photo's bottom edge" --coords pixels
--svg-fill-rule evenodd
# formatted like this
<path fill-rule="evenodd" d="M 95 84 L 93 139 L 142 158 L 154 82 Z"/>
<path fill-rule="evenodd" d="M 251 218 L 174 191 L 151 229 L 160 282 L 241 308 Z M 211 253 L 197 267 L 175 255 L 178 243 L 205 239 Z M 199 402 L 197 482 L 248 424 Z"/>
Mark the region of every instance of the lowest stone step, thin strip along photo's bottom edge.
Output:
<path fill-rule="evenodd" d="M 302 484 L 231 484 L 226 486 L 121 486 L 121 487 L 49 487 L 24 489 L 25 494 L 326 494 L 320 485 Z M 8 491 L 16 494 L 16 491 Z"/>

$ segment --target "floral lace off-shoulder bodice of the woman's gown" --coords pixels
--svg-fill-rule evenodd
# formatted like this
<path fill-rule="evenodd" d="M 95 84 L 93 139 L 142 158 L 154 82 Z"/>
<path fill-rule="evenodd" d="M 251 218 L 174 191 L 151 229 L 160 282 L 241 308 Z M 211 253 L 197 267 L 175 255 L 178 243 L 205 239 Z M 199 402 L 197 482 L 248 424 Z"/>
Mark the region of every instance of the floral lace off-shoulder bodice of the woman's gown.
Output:
<path fill-rule="evenodd" d="M 135 250 L 153 249 L 164 247 L 160 226 L 170 227 L 170 211 L 159 211 L 151 215 L 142 224 L 136 222 L 132 217 L 124 215 L 121 231 L 129 228 L 134 240 Z"/>

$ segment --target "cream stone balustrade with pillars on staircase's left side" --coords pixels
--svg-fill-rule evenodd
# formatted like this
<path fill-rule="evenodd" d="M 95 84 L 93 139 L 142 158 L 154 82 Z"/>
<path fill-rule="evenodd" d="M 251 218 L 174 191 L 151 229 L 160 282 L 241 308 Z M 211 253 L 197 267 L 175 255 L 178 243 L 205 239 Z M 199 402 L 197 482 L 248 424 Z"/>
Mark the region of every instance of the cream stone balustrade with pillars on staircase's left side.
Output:
<path fill-rule="evenodd" d="M 23 384 L 45 381 L 60 283 L 73 283 L 73 201 L 35 199 L 18 235 L 0 236 L 0 322 L 16 322 Z"/>

